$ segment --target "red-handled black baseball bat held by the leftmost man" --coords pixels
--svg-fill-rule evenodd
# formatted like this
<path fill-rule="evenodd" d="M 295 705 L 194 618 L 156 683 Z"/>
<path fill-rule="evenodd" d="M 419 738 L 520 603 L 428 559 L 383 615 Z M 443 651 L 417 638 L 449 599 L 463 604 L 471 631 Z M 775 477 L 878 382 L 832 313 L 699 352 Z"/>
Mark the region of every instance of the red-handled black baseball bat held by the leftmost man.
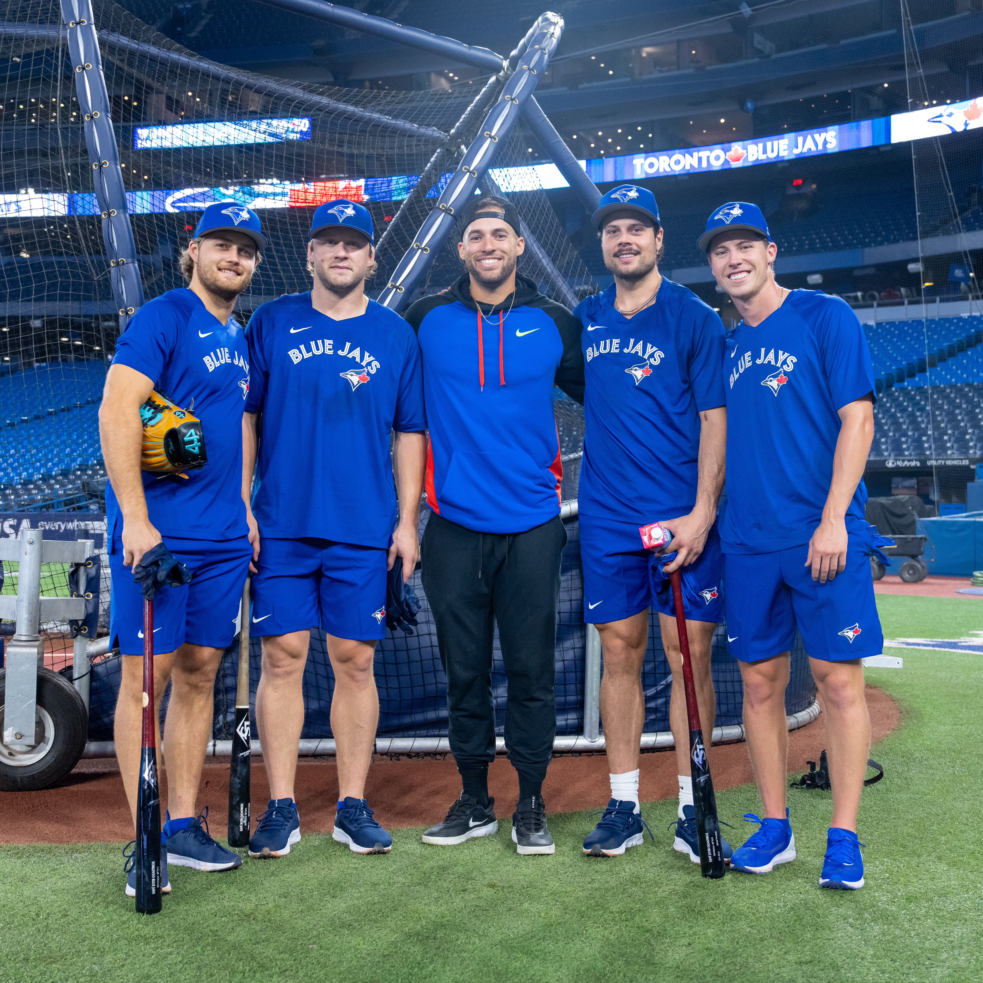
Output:
<path fill-rule="evenodd" d="M 160 910 L 160 788 L 157 783 L 157 734 L 153 715 L 153 602 L 144 601 L 144 739 L 137 789 L 137 913 Z"/>

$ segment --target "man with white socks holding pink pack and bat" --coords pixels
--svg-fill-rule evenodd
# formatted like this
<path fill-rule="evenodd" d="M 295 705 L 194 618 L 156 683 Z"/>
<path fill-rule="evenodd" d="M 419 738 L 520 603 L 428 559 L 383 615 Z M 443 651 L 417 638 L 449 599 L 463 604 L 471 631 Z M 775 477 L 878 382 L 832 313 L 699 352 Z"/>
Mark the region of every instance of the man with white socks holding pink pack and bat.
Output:
<path fill-rule="evenodd" d="M 616 856 L 642 842 L 641 670 L 652 607 L 672 670 L 669 723 L 679 779 L 673 846 L 699 863 L 679 636 L 665 574 L 681 569 L 700 720 L 709 734 L 716 716 L 711 642 L 723 616 L 717 531 L 726 431 L 723 323 L 660 273 L 664 233 L 651 191 L 614 188 L 594 223 L 614 283 L 574 312 L 583 322 L 587 376 L 578 505 L 584 619 L 597 625 L 605 658 L 601 716 L 610 800 L 584 852 Z M 672 533 L 658 558 L 642 548 L 639 534 L 657 521 Z M 728 850 L 724 845 L 724 855 Z"/>

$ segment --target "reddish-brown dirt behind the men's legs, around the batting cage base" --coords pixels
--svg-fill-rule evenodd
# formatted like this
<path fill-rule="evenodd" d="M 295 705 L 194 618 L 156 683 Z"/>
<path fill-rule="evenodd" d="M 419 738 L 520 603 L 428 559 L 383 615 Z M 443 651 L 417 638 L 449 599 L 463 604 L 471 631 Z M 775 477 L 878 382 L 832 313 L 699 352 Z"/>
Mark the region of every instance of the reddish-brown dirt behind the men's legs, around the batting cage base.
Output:
<path fill-rule="evenodd" d="M 874 740 L 895 729 L 900 711 L 881 690 L 867 687 Z M 818 761 L 825 747 L 824 715 L 790 734 L 788 762 L 791 772 L 806 770 L 807 760 Z M 714 781 L 732 788 L 753 780 L 747 748 L 727 744 L 712 752 Z M 668 798 L 676 792 L 675 756 L 659 751 L 643 754 L 641 792 L 646 801 Z M 228 806 L 228 759 L 209 759 L 202 775 L 199 806 L 209 807 L 209 823 L 216 837 L 224 837 Z M 499 757 L 489 775 L 498 814 L 508 815 L 518 796 L 515 771 Z M 389 829 L 437 822 L 461 788 L 454 761 L 378 758 L 369 773 L 367 797 L 376 817 Z M 338 791 L 333 758 L 302 759 L 297 769 L 297 802 L 306 833 L 329 833 L 334 828 Z M 572 812 L 607 805 L 607 757 L 603 754 L 561 755 L 549 766 L 544 786 L 549 812 Z M 259 759 L 253 762 L 253 815 L 266 806 L 268 786 Z M 37 792 L 0 794 L 0 844 L 125 842 L 133 838 L 130 810 L 115 759 L 80 762 L 58 788 Z"/>

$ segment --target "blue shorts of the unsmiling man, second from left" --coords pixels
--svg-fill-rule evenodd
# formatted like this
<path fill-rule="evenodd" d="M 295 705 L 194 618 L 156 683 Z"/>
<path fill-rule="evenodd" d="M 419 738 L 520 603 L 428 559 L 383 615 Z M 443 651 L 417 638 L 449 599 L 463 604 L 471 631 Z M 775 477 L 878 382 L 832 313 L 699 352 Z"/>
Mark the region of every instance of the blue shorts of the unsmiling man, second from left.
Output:
<path fill-rule="evenodd" d="M 320 625 L 335 638 L 384 638 L 386 555 L 331 540 L 261 539 L 250 629 L 286 635 Z"/>

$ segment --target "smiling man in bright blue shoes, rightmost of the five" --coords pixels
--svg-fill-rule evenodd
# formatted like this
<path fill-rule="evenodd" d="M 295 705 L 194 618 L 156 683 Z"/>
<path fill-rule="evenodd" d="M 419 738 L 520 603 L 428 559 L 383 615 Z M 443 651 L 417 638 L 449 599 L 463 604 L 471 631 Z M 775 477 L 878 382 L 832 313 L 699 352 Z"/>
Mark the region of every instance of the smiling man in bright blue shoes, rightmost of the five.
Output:
<path fill-rule="evenodd" d="M 795 858 L 784 693 L 801 631 L 827 716 L 833 824 L 820 887 L 863 887 L 856 822 L 870 748 L 860 660 L 881 652 L 864 520 L 874 373 L 838 297 L 775 282 L 761 209 L 727 202 L 697 241 L 743 317 L 727 340 L 727 645 L 744 679 L 744 726 L 764 807 L 731 866 L 767 874 Z"/>

